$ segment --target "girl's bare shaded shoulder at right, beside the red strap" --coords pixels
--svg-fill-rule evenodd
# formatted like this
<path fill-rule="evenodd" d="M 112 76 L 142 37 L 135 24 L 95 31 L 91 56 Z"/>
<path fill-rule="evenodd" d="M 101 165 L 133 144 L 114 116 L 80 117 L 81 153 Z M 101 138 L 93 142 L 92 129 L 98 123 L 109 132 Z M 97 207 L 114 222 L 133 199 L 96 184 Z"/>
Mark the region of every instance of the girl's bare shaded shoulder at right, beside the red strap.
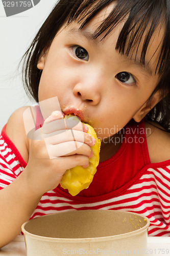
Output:
<path fill-rule="evenodd" d="M 151 163 L 169 160 L 170 133 L 153 121 L 145 121 L 144 126 Z"/>

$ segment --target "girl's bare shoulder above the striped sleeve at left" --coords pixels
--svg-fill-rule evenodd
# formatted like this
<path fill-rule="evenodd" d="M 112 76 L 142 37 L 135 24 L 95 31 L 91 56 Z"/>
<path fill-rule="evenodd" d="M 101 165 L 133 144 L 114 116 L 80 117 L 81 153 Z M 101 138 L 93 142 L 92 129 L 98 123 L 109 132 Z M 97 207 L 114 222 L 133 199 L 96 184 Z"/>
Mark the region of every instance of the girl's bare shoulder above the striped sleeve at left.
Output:
<path fill-rule="evenodd" d="M 23 122 L 23 113 L 29 106 L 23 106 L 12 113 L 7 125 L 6 134 L 14 143 L 23 160 L 28 162 L 29 159 L 29 140 L 26 135 L 25 125 Z"/>

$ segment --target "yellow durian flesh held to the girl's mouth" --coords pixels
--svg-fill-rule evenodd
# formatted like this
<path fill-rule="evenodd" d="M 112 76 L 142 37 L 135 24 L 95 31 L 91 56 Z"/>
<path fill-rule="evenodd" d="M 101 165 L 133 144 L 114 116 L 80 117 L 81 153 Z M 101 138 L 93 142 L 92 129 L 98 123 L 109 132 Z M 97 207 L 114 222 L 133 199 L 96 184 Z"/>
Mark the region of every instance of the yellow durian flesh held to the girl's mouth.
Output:
<path fill-rule="evenodd" d="M 65 116 L 65 118 L 69 118 L 69 116 Z M 74 118 L 77 117 L 74 116 Z M 96 167 L 99 164 L 101 141 L 97 138 L 93 127 L 87 123 L 85 123 L 85 125 L 88 126 L 87 133 L 95 139 L 95 145 L 91 146 L 93 156 L 89 158 L 89 166 L 87 168 L 84 168 L 78 165 L 74 168 L 66 170 L 60 182 L 61 187 L 67 188 L 69 194 L 71 194 L 72 196 L 76 196 L 80 193 L 81 190 L 88 188 L 96 172 Z"/>

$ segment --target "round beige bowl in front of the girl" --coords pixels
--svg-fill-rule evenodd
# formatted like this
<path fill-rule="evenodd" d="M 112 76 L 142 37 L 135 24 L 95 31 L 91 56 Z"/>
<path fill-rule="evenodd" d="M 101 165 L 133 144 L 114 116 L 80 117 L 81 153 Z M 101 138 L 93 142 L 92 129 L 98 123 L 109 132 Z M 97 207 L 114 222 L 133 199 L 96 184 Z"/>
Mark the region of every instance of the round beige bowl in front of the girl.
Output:
<path fill-rule="evenodd" d="M 27 256 L 143 255 L 149 220 L 132 212 L 59 212 L 22 225 Z"/>

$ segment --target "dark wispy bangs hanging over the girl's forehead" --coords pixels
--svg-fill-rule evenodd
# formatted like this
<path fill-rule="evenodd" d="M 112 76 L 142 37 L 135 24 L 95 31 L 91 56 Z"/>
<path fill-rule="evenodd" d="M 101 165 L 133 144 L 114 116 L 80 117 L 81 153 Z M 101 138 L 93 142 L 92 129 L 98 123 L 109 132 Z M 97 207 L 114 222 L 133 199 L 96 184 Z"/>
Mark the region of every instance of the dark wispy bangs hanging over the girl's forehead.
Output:
<path fill-rule="evenodd" d="M 129 56 L 131 52 L 135 53 L 136 60 L 139 45 L 141 44 L 141 41 L 143 41 L 140 52 L 140 62 L 144 65 L 145 55 L 151 37 L 156 29 L 161 29 L 163 26 L 165 28 L 165 34 L 159 44 L 159 46 L 161 45 L 161 50 L 155 73 L 158 72 L 161 74 L 165 72 L 167 65 L 169 66 L 170 57 L 169 17 L 167 16 L 170 8 L 163 0 L 85 0 L 80 4 L 79 8 L 77 7 L 75 10 L 72 9 L 67 25 L 71 22 L 77 21 L 80 23 L 81 30 L 96 14 L 113 2 L 115 2 L 115 5 L 112 11 L 95 30 L 93 38 L 103 35 L 101 39 L 103 40 L 119 23 L 124 21 L 124 26 L 118 36 L 115 49 L 120 54 L 127 56 Z"/>

